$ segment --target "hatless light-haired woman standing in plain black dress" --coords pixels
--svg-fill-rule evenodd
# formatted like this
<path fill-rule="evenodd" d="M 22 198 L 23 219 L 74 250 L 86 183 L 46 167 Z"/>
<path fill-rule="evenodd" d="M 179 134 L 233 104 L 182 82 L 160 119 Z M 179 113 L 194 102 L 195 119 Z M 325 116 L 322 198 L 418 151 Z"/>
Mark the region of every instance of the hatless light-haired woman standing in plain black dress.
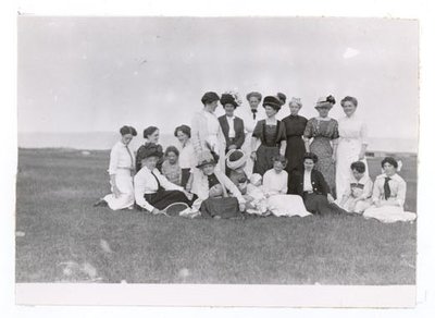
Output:
<path fill-rule="evenodd" d="M 298 115 L 298 112 L 302 107 L 300 98 L 291 98 L 288 106 L 290 108 L 290 114 L 283 119 L 283 123 L 285 124 L 287 134 L 287 147 L 285 154 L 287 159 L 286 170 L 288 176 L 290 176 L 294 170 L 302 170 L 303 168 L 302 160 L 303 154 L 306 152 L 306 146 L 302 136 L 306 131 L 307 119 Z"/>

